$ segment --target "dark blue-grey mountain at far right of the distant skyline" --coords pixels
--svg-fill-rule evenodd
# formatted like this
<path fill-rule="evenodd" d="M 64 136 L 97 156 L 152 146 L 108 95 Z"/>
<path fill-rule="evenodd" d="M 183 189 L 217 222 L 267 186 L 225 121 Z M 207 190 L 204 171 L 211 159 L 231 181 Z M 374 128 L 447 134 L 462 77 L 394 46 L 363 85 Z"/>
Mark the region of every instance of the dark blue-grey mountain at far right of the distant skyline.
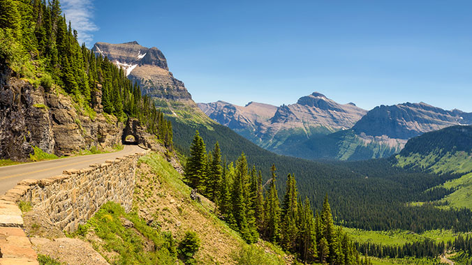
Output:
<path fill-rule="evenodd" d="M 469 124 L 472 124 L 472 113 L 444 110 L 426 103 L 403 103 L 375 107 L 355 124 L 353 130 L 358 135 L 407 140 L 425 132 Z"/>

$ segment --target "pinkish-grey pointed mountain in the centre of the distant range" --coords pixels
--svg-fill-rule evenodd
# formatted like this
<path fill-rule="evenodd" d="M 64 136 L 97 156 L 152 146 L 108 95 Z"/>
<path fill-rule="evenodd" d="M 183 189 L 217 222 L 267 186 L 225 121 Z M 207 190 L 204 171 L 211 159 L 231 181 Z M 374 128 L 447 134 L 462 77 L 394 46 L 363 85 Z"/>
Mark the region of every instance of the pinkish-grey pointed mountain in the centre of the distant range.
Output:
<path fill-rule="evenodd" d="M 253 102 L 241 107 L 223 101 L 198 103 L 198 107 L 214 121 L 276 153 L 314 135 L 351 128 L 367 112 L 353 103 L 336 103 L 318 92 L 280 107 Z"/>

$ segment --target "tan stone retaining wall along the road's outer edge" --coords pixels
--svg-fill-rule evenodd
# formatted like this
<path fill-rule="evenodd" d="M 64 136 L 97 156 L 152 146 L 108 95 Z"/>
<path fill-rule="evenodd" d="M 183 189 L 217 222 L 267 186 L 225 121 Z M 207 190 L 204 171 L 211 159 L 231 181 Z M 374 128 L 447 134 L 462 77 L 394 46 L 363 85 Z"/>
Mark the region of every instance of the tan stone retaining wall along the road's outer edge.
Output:
<path fill-rule="evenodd" d="M 17 202 L 31 202 L 59 229 L 74 232 L 105 202 L 131 210 L 135 168 L 145 153 L 107 160 L 86 169 L 71 169 L 48 179 L 25 179 L 0 197 L 0 265 L 38 264 L 36 252 L 25 236 L 22 213 Z"/>

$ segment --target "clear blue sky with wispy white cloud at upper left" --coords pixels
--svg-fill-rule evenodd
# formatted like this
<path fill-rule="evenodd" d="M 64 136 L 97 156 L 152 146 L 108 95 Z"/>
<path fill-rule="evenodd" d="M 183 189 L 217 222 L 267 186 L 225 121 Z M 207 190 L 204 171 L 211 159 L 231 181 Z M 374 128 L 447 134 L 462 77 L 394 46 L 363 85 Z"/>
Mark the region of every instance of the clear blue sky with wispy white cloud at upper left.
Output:
<path fill-rule="evenodd" d="M 472 112 L 472 1 L 62 0 L 80 41 L 158 47 L 196 102 Z"/>

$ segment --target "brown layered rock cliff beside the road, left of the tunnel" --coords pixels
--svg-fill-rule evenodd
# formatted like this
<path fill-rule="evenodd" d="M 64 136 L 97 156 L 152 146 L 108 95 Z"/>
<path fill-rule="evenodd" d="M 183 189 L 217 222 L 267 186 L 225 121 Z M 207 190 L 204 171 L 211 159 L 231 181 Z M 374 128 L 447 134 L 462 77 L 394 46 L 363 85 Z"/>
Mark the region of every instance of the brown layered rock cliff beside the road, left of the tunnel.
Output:
<path fill-rule="evenodd" d="M 100 94 L 94 96 L 94 107 L 101 112 Z M 110 149 L 121 143 L 123 128 L 101 113 L 91 119 L 68 96 L 35 88 L 0 63 L 0 158 L 26 160 L 33 146 L 57 156 L 91 146 Z"/>

